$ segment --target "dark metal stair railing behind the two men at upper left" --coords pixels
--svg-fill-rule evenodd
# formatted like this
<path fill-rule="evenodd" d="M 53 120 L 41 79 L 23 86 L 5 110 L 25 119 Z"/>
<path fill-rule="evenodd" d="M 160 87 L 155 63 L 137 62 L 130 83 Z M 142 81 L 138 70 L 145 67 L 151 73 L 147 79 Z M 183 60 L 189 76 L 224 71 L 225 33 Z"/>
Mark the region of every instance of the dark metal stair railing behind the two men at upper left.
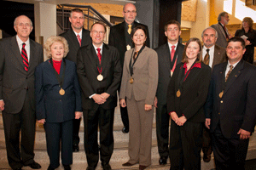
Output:
<path fill-rule="evenodd" d="M 102 14 L 96 11 L 95 8 L 91 6 L 84 5 L 73 5 L 73 4 L 59 4 L 57 5 L 57 25 L 60 26 L 62 31 L 67 31 L 70 29 L 69 14 L 73 8 L 80 8 L 84 12 L 84 29 L 90 31 L 90 26 L 92 26 L 96 21 L 102 21 L 107 26 L 106 37 L 104 42 L 108 43 L 108 34 L 110 27 L 113 26 Z"/>

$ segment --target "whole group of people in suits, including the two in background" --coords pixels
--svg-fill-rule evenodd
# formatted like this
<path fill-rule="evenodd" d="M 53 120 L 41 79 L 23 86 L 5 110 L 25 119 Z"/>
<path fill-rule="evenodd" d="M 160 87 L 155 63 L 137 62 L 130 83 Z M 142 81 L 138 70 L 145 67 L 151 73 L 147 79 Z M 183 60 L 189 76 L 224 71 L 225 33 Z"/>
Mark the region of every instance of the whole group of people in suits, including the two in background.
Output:
<path fill-rule="evenodd" d="M 123 15 L 106 44 L 106 26 L 96 22 L 85 30 L 83 11 L 73 8 L 71 29 L 44 43 L 46 61 L 41 45 L 29 38 L 32 21 L 25 15 L 15 19 L 17 35 L 0 41 L 9 166 L 41 168 L 33 152 L 37 119 L 44 124 L 48 170 L 60 166 L 60 150 L 64 169 L 71 169 L 83 115 L 86 170 L 96 169 L 99 159 L 111 170 L 119 94 L 122 131 L 129 133 L 124 167 L 151 165 L 155 107 L 160 165 L 169 157 L 170 169 L 198 170 L 201 150 L 207 162 L 213 150 L 216 169 L 244 169 L 256 123 L 256 67 L 248 63 L 256 44 L 253 20 L 246 17 L 231 37 L 228 14 L 219 14 L 218 24 L 202 32 L 203 46 L 196 37 L 185 46 L 179 42 L 180 23 L 171 20 L 164 28 L 166 44 L 152 49 L 148 27 L 135 21 L 136 7 L 125 4 Z"/>

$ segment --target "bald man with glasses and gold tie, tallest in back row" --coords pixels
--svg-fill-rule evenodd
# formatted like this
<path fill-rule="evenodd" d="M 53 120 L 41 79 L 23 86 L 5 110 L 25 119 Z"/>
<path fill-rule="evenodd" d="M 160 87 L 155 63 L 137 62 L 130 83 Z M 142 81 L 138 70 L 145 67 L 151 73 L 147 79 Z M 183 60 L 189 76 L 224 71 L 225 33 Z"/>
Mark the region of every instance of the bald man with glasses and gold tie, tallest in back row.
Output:
<path fill-rule="evenodd" d="M 123 8 L 124 22 L 119 25 L 110 28 L 108 44 L 112 45 L 119 50 L 120 63 L 123 68 L 125 52 L 131 48 L 134 48 L 134 44 L 131 41 L 131 30 L 137 25 L 143 25 L 134 21 L 137 16 L 136 7 L 132 3 L 125 4 Z M 145 26 L 145 25 L 143 25 Z M 145 26 L 148 32 L 148 26 Z M 147 34 L 146 45 L 150 46 L 149 35 Z M 121 118 L 124 124 L 123 133 L 129 132 L 129 118 L 127 113 L 127 107 L 120 107 Z"/>

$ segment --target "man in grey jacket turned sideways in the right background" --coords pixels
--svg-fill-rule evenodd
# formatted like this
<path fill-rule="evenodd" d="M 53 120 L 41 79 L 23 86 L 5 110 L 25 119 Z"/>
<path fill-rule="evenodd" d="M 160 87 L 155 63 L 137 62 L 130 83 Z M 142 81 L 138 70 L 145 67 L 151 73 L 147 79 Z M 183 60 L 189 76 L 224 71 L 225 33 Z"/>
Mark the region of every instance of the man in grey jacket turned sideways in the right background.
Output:
<path fill-rule="evenodd" d="M 218 14 L 218 24 L 212 25 L 212 28 L 214 28 L 218 32 L 216 44 L 222 48 L 227 47 L 227 42 L 232 37 L 229 34 L 228 29 L 226 28 L 226 25 L 229 24 L 229 20 L 229 14 L 227 12 L 222 12 Z"/>

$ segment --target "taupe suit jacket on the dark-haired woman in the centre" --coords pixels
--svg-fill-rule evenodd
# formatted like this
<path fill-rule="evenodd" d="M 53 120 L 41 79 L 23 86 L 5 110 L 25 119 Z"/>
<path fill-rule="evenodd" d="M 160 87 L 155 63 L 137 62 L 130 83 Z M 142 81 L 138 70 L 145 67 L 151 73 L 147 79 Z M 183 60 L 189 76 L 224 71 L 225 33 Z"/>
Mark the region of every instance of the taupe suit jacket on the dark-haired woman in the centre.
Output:
<path fill-rule="evenodd" d="M 133 66 L 133 79 L 131 84 L 129 64 L 133 49 L 125 53 L 125 63 L 123 68 L 123 77 L 119 99 L 131 99 L 131 95 L 139 101 L 145 99 L 145 104 L 153 105 L 154 96 L 158 83 L 158 57 L 154 49 L 145 47 L 139 54 L 135 65 Z"/>

